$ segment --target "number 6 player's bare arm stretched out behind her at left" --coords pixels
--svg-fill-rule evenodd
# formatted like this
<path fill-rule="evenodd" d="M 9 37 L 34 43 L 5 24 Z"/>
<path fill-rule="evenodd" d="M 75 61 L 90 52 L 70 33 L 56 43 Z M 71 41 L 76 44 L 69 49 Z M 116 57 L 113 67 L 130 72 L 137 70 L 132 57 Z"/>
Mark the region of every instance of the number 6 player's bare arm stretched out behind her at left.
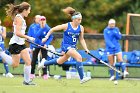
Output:
<path fill-rule="evenodd" d="M 62 25 L 58 25 L 51 28 L 49 32 L 47 33 L 47 35 L 45 36 L 45 38 L 42 39 L 42 42 L 45 42 L 54 31 L 60 31 L 60 30 L 66 30 L 66 29 L 67 29 L 67 24 L 62 24 Z"/>

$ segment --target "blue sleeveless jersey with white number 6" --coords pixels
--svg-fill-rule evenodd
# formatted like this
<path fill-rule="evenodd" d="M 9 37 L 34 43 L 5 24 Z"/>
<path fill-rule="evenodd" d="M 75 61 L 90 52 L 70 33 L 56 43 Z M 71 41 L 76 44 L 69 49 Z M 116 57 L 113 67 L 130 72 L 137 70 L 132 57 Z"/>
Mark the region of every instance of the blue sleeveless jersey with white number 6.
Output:
<path fill-rule="evenodd" d="M 69 48 L 76 48 L 79 35 L 81 33 L 80 25 L 74 29 L 70 22 L 68 22 L 68 28 L 64 31 L 63 40 L 61 44 L 62 51 L 66 52 Z"/>

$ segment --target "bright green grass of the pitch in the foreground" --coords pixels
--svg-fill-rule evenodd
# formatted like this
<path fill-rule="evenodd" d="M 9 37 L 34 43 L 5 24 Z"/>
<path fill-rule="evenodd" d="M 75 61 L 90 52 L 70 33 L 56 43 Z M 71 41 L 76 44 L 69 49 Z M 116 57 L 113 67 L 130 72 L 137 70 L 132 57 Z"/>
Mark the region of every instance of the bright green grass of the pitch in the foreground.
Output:
<path fill-rule="evenodd" d="M 118 85 L 108 79 L 92 79 L 80 84 L 78 79 L 55 80 L 50 78 L 34 80 L 37 86 L 22 85 L 23 77 L 5 78 L 0 76 L 0 93 L 139 93 L 140 81 L 120 80 Z"/>

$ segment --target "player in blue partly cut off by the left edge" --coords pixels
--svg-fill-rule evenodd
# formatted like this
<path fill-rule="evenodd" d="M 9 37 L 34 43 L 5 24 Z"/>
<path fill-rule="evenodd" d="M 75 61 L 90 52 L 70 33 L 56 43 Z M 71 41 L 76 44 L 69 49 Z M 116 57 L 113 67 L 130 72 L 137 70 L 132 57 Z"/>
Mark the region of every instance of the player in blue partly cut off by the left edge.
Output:
<path fill-rule="evenodd" d="M 7 55 L 5 53 L 5 47 L 4 47 L 4 39 L 6 38 L 6 28 L 4 26 L 1 26 L 1 20 L 0 20 L 0 52 L 3 52 L 5 55 Z M 2 53 L 0 53 L 1 56 Z M 9 55 L 7 55 L 9 56 Z M 6 77 L 14 77 L 10 72 L 9 72 L 9 67 L 7 62 L 5 61 L 5 58 L 2 58 L 3 64 L 4 64 L 4 68 L 5 68 L 5 76 Z"/>

